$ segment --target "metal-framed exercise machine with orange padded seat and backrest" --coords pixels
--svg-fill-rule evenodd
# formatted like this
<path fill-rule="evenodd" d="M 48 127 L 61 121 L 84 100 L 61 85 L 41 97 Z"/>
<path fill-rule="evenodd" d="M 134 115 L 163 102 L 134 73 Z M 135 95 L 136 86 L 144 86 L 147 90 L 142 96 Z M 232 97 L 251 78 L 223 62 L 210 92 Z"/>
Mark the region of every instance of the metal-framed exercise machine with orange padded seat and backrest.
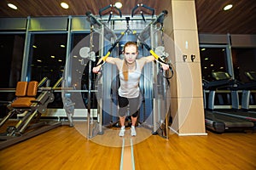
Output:
<path fill-rule="evenodd" d="M 15 100 L 11 102 L 9 113 L 3 117 L 0 127 L 8 122 L 15 114 L 22 117 L 15 126 L 9 126 L 5 133 L 0 134 L 0 150 L 12 144 L 32 138 L 55 127 L 61 126 L 61 122 L 42 121 L 40 117 L 47 111 L 47 105 L 54 101 L 54 90 L 60 85 L 62 78 L 55 83 L 54 87 L 42 87 L 48 78 L 44 77 L 41 82 L 17 82 Z M 40 94 L 37 96 L 38 92 Z"/>

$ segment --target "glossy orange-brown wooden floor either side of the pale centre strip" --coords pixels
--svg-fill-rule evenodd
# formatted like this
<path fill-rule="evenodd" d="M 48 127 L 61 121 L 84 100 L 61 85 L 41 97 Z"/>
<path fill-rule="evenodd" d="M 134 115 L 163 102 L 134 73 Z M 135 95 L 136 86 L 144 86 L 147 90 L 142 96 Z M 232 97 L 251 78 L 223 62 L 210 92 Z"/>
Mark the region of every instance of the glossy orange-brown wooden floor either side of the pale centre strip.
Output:
<path fill-rule="evenodd" d="M 135 168 L 256 169 L 256 133 L 207 133 L 186 137 L 170 134 L 169 140 L 151 135 L 133 145 Z M 62 126 L 0 150 L 0 169 L 118 170 L 121 150 L 96 144 L 76 128 Z"/>

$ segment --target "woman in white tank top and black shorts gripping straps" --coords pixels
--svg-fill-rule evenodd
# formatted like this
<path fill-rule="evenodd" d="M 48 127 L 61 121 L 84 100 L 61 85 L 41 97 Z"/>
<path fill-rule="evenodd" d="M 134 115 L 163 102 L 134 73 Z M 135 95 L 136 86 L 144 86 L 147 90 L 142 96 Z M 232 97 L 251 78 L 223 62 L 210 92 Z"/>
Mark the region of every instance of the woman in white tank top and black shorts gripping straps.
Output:
<path fill-rule="evenodd" d="M 139 80 L 143 66 L 154 61 L 154 56 L 137 59 L 138 48 L 136 42 L 126 42 L 123 54 L 124 59 L 108 57 L 105 61 L 116 65 L 119 70 L 120 87 L 118 90 L 119 122 L 121 129 L 119 136 L 125 135 L 125 114 L 129 111 L 131 116 L 131 136 L 136 136 L 135 125 L 137 122 L 137 111 L 142 103 L 142 95 L 139 89 Z M 163 70 L 168 70 L 169 65 L 161 64 Z M 100 71 L 102 65 L 93 68 L 94 73 Z"/>

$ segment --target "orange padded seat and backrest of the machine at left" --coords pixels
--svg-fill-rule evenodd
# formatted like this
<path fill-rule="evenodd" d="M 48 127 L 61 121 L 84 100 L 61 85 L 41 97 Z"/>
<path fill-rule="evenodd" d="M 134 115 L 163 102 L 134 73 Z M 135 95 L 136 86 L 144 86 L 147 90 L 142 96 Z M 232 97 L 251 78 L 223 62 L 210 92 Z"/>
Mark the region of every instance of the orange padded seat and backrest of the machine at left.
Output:
<path fill-rule="evenodd" d="M 32 105 L 32 100 L 36 99 L 37 93 L 38 82 L 18 82 L 15 93 L 17 98 L 11 106 L 13 108 L 28 108 Z"/>

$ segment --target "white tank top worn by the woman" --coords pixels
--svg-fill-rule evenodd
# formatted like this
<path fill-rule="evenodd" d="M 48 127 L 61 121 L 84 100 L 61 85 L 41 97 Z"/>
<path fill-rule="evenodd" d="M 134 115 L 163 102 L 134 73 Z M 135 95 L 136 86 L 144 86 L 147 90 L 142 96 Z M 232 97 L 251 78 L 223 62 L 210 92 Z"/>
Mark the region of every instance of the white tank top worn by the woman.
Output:
<path fill-rule="evenodd" d="M 119 87 L 119 96 L 125 98 L 137 98 L 140 94 L 140 88 L 138 83 L 141 77 L 141 69 L 140 65 L 136 62 L 136 69 L 135 71 L 129 72 L 128 74 L 128 81 L 124 80 L 124 75 L 122 69 L 119 71 L 119 80 L 120 80 L 120 87 Z"/>

